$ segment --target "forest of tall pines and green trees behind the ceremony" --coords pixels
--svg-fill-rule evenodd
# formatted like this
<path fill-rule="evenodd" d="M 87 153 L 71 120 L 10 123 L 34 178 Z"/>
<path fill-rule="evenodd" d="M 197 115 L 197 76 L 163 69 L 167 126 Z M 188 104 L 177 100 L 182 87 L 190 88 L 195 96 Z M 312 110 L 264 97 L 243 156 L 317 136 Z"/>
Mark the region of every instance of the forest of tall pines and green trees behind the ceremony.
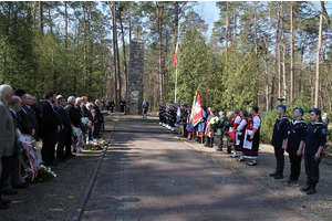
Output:
<path fill-rule="evenodd" d="M 211 34 L 195 6 L 1 1 L 0 83 L 38 98 L 46 91 L 90 99 L 107 94 L 118 104 L 126 93 L 132 29 L 141 24 L 146 48 L 144 97 L 152 112 L 159 102 L 175 102 L 177 42 L 177 97 L 183 104 L 193 103 L 198 87 L 205 106 L 246 109 L 258 104 L 266 118 L 262 137 L 268 138 L 277 117 L 271 110 L 280 98 L 289 116 L 294 106 L 305 112 L 313 106 L 319 71 L 318 106 L 331 112 L 329 2 L 219 1 Z"/>

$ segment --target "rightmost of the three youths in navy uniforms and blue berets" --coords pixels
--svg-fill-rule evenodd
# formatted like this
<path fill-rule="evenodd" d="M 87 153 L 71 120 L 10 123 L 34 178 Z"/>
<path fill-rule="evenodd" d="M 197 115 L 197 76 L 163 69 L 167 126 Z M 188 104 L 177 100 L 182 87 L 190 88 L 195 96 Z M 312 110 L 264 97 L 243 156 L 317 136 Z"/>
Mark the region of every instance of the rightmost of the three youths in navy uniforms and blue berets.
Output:
<path fill-rule="evenodd" d="M 300 190 L 305 191 L 307 194 L 314 194 L 320 178 L 321 155 L 326 143 L 326 127 L 322 122 L 321 109 L 312 108 L 309 113 L 311 123 L 308 125 L 303 150 L 307 186 Z"/>

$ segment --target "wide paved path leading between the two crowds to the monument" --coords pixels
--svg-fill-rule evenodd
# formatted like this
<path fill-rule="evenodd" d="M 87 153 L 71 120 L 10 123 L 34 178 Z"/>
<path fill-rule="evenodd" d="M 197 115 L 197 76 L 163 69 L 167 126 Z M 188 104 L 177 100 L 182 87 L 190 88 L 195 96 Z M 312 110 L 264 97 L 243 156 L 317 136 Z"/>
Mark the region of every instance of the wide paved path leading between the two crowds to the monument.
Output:
<path fill-rule="evenodd" d="M 154 126 L 155 125 L 155 126 Z M 82 213 L 92 220 L 310 220 L 172 134 L 113 134 Z M 116 128 L 139 130 L 129 122 Z"/>

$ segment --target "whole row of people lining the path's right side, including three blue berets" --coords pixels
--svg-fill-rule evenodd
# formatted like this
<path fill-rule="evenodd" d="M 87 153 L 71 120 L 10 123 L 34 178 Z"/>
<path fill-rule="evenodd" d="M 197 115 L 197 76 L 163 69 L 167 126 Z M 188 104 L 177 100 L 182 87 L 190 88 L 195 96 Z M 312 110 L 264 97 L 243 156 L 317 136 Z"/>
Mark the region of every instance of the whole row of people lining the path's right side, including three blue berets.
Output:
<path fill-rule="evenodd" d="M 235 107 L 226 116 L 224 109 L 216 115 L 215 108 L 201 107 L 203 118 L 198 124 L 193 125 L 191 107 L 181 105 L 180 114 L 177 106 L 173 104 L 160 103 L 159 105 L 159 125 L 174 130 L 174 127 L 180 128 L 180 136 L 204 144 L 205 147 L 214 148 L 216 151 L 222 151 L 226 147 L 227 154 L 237 161 L 247 162 L 248 166 L 257 166 L 257 158 L 260 143 L 261 117 L 258 114 L 258 106 L 252 106 L 247 110 L 240 110 Z M 270 173 L 274 179 L 283 178 L 284 151 L 289 154 L 290 176 L 284 183 L 295 187 L 299 186 L 299 176 L 301 171 L 301 160 L 304 158 L 304 170 L 307 175 L 307 186 L 301 191 L 307 194 L 314 194 L 319 182 L 319 165 L 321 162 L 322 150 L 326 143 L 326 129 L 329 125 L 328 114 L 322 117 L 321 109 L 312 108 L 310 113 L 310 123 L 307 124 L 302 116 L 302 107 L 293 109 L 293 117 L 290 120 L 286 116 L 287 106 L 280 104 L 277 106 L 277 118 L 273 126 L 271 145 L 274 148 L 277 161 L 276 171 Z M 227 143 L 225 144 L 225 140 Z"/>

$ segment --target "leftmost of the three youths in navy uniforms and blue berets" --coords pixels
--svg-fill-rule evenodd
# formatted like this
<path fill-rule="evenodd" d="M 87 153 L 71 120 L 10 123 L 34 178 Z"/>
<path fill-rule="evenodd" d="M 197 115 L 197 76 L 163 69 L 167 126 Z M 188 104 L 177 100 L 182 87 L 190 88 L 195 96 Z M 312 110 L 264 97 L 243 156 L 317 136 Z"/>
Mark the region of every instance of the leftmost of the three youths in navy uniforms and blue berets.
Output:
<path fill-rule="evenodd" d="M 287 135 L 289 127 L 289 119 L 284 116 L 287 106 L 279 104 L 277 106 L 277 113 L 279 117 L 274 123 L 273 135 L 271 145 L 274 147 L 274 156 L 277 158 L 277 169 L 273 173 L 270 173 L 270 177 L 274 179 L 283 178 L 283 168 L 284 168 L 284 149 L 287 147 Z"/>

